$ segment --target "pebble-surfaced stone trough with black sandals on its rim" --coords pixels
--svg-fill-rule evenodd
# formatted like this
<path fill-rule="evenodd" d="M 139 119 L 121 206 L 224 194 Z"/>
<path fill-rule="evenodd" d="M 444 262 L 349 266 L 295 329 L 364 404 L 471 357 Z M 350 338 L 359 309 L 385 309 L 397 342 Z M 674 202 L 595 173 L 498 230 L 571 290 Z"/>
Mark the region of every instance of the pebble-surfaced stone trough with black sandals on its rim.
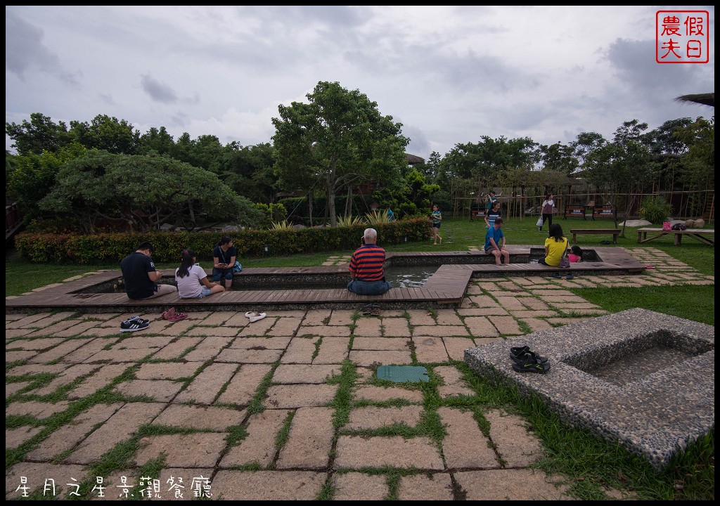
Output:
<path fill-rule="evenodd" d="M 545 374 L 513 371 L 510 348 L 549 358 Z M 469 348 L 495 383 L 538 394 L 564 423 L 618 441 L 661 470 L 715 425 L 715 327 L 642 309 Z"/>

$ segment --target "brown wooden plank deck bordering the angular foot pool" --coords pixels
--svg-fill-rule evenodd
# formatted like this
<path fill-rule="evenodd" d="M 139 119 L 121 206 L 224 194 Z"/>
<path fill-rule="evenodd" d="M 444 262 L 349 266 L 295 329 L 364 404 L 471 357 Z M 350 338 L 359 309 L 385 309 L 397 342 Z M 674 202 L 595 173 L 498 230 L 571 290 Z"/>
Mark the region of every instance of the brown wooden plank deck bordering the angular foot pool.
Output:
<path fill-rule="evenodd" d="M 246 268 L 238 273 L 235 285 L 240 289 L 214 294 L 204 299 L 180 299 L 176 294 L 164 295 L 155 299 L 130 300 L 124 292 L 87 293 L 94 287 L 106 284 L 122 277 L 120 271 L 107 271 L 76 281 L 69 281 L 39 292 L 24 294 L 14 299 L 6 299 L 6 312 L 74 310 L 80 312 L 159 312 L 169 307 L 177 311 L 248 311 L 266 310 L 306 310 L 310 308 L 356 308 L 368 302 L 377 302 L 382 307 L 408 309 L 413 307 L 459 307 L 472 278 L 498 278 L 505 276 L 548 276 L 554 271 L 582 274 L 632 274 L 642 273 L 645 266 L 620 248 L 595 248 L 602 261 L 573 263 L 570 269 L 543 266 L 538 263 L 512 263 L 514 258 L 529 258 L 531 248 L 541 246 L 513 246 L 511 263 L 508 266 L 496 266 L 491 256 L 479 252 L 422 252 L 389 253 L 388 261 L 393 258 L 401 263 L 401 258 L 418 263 L 442 263 L 433 276 L 419 288 L 392 288 L 377 296 L 357 295 L 344 287 L 333 289 L 315 289 L 303 286 L 300 289 L 242 289 L 240 279 L 253 276 L 342 276 L 341 282 L 349 281 L 347 266 L 295 267 L 295 268 Z M 487 263 L 467 263 L 468 261 L 487 261 Z M 455 262 L 455 263 L 447 263 Z M 407 263 L 405 263 L 407 265 Z M 282 283 L 274 286 L 282 286 Z"/>

